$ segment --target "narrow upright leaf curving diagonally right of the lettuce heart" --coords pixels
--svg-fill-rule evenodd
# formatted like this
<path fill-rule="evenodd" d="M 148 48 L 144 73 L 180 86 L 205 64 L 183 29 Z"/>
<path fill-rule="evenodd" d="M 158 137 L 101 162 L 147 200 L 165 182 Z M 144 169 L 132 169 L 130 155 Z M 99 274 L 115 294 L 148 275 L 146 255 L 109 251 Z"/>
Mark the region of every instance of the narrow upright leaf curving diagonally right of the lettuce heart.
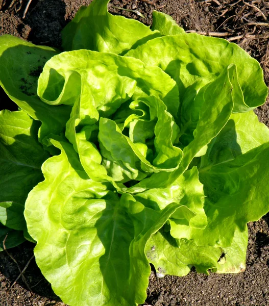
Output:
<path fill-rule="evenodd" d="M 128 192 L 142 192 L 150 188 L 164 188 L 172 184 L 189 166 L 192 159 L 223 129 L 233 110 L 233 75 L 235 65 L 228 66 L 221 75 L 209 83 L 198 95 L 201 109 L 197 126 L 193 132 L 193 140 L 184 147 L 183 158 L 173 172 L 154 173 Z"/>

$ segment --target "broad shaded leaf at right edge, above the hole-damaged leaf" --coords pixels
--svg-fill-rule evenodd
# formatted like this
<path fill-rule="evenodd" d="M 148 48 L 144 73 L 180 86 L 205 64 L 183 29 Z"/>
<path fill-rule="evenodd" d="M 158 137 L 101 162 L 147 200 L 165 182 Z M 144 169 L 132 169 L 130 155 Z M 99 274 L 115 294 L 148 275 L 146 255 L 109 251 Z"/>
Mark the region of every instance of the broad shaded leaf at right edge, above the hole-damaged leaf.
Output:
<path fill-rule="evenodd" d="M 208 226 L 203 231 L 193 230 L 192 237 L 199 245 L 230 246 L 236 230 L 244 232 L 247 222 L 259 220 L 269 211 L 268 148 L 267 142 L 232 161 L 200 170 Z"/>

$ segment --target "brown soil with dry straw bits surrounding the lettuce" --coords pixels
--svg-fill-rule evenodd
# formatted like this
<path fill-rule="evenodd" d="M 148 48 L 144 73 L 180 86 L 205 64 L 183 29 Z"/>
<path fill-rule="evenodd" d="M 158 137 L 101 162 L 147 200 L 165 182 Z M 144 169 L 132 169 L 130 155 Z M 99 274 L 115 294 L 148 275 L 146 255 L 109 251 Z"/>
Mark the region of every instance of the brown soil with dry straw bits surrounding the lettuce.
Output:
<path fill-rule="evenodd" d="M 0 35 L 12 34 L 35 44 L 54 47 L 61 45 L 61 29 L 81 5 L 91 0 L 33 0 L 25 12 L 26 0 L 0 0 Z M 114 8 L 113 8 L 114 7 Z M 118 10 L 115 7 L 137 10 L 144 15 Z M 221 35 L 239 44 L 255 57 L 269 83 L 269 7 L 261 0 L 113 0 L 109 11 L 151 24 L 153 10 L 171 15 L 186 31 Z M 216 34 L 217 32 L 218 34 Z M 221 34 L 219 34 L 221 33 Z M 4 92 L 0 91 L 3 103 Z M 269 100 L 256 110 L 261 122 L 269 127 Z M 12 108 L 12 105 L 11 105 Z M 11 286 L 33 256 L 34 245 L 25 242 L 0 252 L 0 306 L 64 306 L 42 276 L 34 259 L 21 278 Z M 17 264 L 13 259 L 17 261 Z M 31 289 L 31 290 L 30 290 Z M 145 305 L 269 305 L 269 214 L 249 223 L 247 269 L 240 274 L 210 274 L 191 271 L 185 277 L 150 276 Z M 82 305 L 83 306 L 83 305 Z"/>

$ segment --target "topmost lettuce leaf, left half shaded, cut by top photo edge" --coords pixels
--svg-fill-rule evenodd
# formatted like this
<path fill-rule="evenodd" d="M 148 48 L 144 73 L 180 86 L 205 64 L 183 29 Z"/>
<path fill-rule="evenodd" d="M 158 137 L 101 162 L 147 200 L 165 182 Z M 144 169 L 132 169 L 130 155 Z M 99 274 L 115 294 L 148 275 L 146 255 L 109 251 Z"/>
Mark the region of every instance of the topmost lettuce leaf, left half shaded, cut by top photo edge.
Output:
<path fill-rule="evenodd" d="M 62 32 L 64 50 L 89 49 L 121 54 L 160 36 L 143 23 L 113 16 L 107 11 L 109 0 L 94 0 L 81 7 Z"/>

